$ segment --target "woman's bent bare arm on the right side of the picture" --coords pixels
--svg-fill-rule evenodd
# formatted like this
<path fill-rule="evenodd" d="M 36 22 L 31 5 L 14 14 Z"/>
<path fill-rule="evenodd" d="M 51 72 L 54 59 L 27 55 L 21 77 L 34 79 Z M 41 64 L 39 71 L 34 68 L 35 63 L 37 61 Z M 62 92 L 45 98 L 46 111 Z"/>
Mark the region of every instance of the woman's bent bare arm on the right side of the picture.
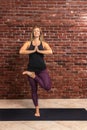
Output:
<path fill-rule="evenodd" d="M 37 52 L 41 53 L 41 54 L 52 54 L 52 49 L 48 45 L 48 43 L 43 42 L 43 47 L 44 47 L 44 50 L 39 50 L 38 47 L 37 47 Z"/>

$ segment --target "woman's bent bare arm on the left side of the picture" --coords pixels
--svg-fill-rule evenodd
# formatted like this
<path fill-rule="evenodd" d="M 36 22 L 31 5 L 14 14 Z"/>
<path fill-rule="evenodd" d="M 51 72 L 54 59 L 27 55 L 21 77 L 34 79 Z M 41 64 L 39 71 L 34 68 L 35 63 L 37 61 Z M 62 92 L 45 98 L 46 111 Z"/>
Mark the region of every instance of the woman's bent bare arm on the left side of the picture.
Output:
<path fill-rule="evenodd" d="M 20 54 L 31 54 L 31 53 L 34 53 L 36 51 L 36 49 L 34 50 L 27 50 L 30 46 L 30 42 L 25 42 L 24 45 L 21 47 L 19 53 Z"/>

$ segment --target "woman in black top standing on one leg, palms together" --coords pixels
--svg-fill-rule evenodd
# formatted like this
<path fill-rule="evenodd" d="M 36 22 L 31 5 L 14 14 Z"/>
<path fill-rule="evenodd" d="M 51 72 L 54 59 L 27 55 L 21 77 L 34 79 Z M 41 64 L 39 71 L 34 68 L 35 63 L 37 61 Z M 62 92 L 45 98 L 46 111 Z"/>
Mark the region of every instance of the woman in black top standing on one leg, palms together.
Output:
<path fill-rule="evenodd" d="M 29 55 L 28 70 L 23 74 L 28 75 L 29 83 L 32 90 L 32 99 L 36 108 L 35 116 L 40 116 L 38 106 L 37 85 L 39 84 L 45 90 L 51 89 L 51 81 L 46 70 L 44 54 L 52 54 L 52 49 L 48 43 L 43 41 L 41 28 L 34 27 L 31 33 L 31 40 L 24 43 L 21 47 L 20 54 Z"/>

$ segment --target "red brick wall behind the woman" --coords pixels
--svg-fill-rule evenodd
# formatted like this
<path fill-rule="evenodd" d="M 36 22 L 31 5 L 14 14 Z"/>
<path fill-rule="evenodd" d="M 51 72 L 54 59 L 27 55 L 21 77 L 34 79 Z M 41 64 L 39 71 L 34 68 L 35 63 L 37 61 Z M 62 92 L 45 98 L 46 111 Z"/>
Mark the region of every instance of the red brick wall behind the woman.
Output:
<path fill-rule="evenodd" d="M 39 98 L 87 98 L 87 1 L 0 0 L 0 98 L 31 98 L 27 55 L 19 49 L 39 25 L 53 55 L 45 56 L 52 80 Z"/>

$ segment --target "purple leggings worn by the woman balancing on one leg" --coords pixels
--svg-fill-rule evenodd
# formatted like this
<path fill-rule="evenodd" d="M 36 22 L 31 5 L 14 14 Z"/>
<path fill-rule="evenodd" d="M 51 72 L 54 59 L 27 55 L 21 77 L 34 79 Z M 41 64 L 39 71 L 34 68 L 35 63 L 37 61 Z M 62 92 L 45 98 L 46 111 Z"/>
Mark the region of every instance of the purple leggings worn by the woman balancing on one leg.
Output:
<path fill-rule="evenodd" d="M 29 76 L 28 79 L 31 85 L 33 103 L 35 106 L 38 106 L 38 95 L 37 95 L 38 84 L 48 91 L 51 89 L 51 80 L 46 69 L 41 71 L 40 73 L 35 74 L 36 77 L 34 79 Z"/>

